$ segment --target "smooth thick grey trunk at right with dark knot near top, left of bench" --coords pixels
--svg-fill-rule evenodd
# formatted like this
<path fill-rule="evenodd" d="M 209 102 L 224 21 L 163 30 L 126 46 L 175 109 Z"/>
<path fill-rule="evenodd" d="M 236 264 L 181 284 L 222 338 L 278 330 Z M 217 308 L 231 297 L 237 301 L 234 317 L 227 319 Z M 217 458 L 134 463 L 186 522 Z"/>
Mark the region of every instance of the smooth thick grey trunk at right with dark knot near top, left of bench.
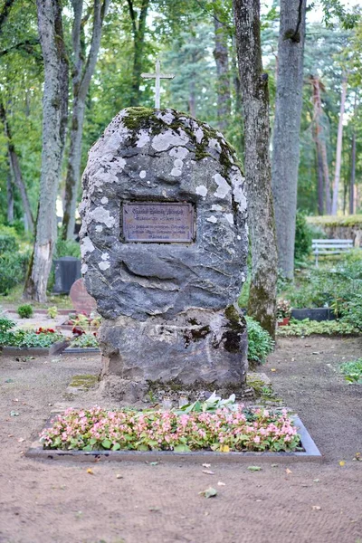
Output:
<path fill-rule="evenodd" d="M 278 262 L 294 277 L 306 0 L 281 0 L 271 179 Z"/>

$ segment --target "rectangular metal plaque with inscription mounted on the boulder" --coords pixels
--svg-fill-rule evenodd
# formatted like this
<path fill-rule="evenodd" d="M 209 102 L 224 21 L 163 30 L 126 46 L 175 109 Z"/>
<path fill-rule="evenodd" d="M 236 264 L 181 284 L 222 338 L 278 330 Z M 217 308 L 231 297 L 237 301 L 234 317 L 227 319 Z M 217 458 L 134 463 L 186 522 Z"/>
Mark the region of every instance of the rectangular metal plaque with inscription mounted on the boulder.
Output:
<path fill-rule="evenodd" d="M 190 243 L 194 239 L 194 206 L 167 202 L 123 204 L 125 242 Z"/>

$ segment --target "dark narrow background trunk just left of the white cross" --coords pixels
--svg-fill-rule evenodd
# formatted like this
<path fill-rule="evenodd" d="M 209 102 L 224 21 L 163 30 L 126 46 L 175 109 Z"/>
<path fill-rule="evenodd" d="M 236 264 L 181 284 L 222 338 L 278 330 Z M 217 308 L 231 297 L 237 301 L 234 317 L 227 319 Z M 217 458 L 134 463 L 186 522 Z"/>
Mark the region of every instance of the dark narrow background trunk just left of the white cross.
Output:
<path fill-rule="evenodd" d="M 142 0 L 139 15 L 135 12 L 133 0 L 127 0 L 129 4 L 129 15 L 132 23 L 133 36 L 133 73 L 130 106 L 139 106 L 141 92 L 139 90 L 142 78 L 143 48 L 145 44 L 146 18 L 148 14 L 149 0 Z"/>

